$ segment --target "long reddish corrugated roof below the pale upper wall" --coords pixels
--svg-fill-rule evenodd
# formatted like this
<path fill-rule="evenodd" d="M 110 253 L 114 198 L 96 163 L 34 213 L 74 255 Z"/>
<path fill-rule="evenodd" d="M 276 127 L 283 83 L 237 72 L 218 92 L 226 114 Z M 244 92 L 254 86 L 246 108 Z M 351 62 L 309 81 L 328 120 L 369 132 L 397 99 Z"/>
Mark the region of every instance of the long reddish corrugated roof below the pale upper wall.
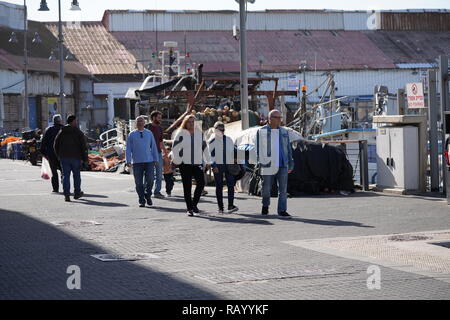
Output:
<path fill-rule="evenodd" d="M 154 32 L 112 32 L 136 57 L 141 48 L 150 54 L 156 48 Z M 158 48 L 164 41 L 178 42 L 184 54 L 191 57 L 188 63 L 203 63 L 205 72 L 238 72 L 239 41 L 230 32 L 159 32 Z M 302 60 L 314 70 L 385 69 L 396 68 L 392 60 L 361 32 L 311 31 L 309 35 L 294 31 L 249 31 L 247 53 L 249 71 L 298 71 Z M 142 43 L 140 41 L 142 40 Z M 259 57 L 264 58 L 260 66 Z"/>

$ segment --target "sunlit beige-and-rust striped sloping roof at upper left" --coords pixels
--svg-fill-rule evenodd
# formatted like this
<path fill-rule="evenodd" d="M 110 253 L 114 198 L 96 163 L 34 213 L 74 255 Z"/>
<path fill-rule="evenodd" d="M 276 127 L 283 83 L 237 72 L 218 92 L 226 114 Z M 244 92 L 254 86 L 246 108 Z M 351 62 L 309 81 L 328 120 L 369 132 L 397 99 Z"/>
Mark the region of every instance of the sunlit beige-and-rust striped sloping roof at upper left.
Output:
<path fill-rule="evenodd" d="M 57 23 L 47 23 L 58 34 Z M 63 27 L 64 43 L 92 74 L 139 74 L 136 59 L 101 22 L 82 22 L 79 27 Z"/>

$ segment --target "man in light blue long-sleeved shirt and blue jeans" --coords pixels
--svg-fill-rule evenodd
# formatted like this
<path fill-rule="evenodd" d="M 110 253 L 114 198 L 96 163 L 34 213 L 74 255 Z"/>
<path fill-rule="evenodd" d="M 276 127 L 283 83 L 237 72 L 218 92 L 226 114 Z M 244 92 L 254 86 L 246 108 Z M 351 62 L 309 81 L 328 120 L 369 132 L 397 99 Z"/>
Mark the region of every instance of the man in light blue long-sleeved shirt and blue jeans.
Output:
<path fill-rule="evenodd" d="M 133 165 L 134 182 L 139 196 L 139 207 L 153 205 L 152 188 L 154 168 L 159 165 L 159 153 L 155 138 L 145 129 L 144 117 L 136 118 L 136 130 L 130 132 L 127 139 L 126 162 Z"/>

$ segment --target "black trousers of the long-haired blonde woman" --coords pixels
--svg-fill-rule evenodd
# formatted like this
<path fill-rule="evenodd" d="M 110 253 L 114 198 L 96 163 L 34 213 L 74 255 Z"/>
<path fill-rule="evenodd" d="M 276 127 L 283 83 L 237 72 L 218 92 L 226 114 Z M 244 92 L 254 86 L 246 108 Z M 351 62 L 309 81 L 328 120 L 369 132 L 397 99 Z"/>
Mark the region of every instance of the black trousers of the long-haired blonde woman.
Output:
<path fill-rule="evenodd" d="M 205 187 L 205 178 L 203 170 L 199 165 L 181 164 L 180 165 L 181 179 L 183 181 L 184 201 L 186 202 L 187 210 L 193 210 L 197 206 Z M 192 178 L 195 179 L 194 198 L 192 198 Z"/>

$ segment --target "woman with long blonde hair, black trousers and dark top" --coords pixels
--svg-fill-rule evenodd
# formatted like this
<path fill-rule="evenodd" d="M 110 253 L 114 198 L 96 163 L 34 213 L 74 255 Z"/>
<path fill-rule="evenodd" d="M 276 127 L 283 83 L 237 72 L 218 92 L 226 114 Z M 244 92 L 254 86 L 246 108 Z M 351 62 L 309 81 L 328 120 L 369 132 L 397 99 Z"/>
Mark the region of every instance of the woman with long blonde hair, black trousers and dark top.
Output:
<path fill-rule="evenodd" d="M 206 143 L 203 140 L 202 131 L 195 127 L 194 115 L 188 115 L 183 119 L 173 139 L 173 162 L 179 165 L 188 216 L 200 212 L 197 205 L 205 187 L 203 149 L 206 147 Z M 196 183 L 193 198 L 192 178 Z"/>

